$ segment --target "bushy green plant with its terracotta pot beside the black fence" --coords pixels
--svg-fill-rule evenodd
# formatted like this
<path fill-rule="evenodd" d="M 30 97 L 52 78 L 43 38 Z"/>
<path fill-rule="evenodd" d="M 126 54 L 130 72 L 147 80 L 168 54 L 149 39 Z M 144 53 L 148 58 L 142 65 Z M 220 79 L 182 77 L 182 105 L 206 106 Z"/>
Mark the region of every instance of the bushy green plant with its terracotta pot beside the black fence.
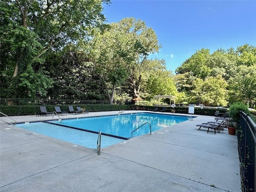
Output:
<path fill-rule="evenodd" d="M 236 134 L 236 129 L 239 126 L 239 112 L 243 111 L 245 113 L 249 113 L 249 110 L 246 105 L 242 104 L 241 102 L 233 103 L 229 110 L 228 115 L 231 120 L 228 122 L 228 133 L 229 134 Z"/>

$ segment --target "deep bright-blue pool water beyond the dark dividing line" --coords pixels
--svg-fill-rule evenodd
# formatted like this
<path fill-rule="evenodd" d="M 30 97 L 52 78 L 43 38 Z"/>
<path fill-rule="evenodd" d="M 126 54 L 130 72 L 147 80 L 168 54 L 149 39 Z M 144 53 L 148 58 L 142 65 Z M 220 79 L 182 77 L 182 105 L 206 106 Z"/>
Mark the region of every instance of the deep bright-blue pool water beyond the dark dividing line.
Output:
<path fill-rule="evenodd" d="M 112 116 L 99 116 L 91 118 L 68 119 L 59 121 L 51 121 L 56 124 L 82 128 L 85 130 L 92 130 L 102 133 L 130 138 L 132 131 L 143 125 L 146 122 L 151 124 L 152 132 L 172 126 L 187 120 L 186 116 L 152 114 L 152 113 L 138 113 L 138 114 L 123 114 Z M 133 136 L 140 136 L 150 133 L 149 124 L 144 125 L 133 133 Z"/>

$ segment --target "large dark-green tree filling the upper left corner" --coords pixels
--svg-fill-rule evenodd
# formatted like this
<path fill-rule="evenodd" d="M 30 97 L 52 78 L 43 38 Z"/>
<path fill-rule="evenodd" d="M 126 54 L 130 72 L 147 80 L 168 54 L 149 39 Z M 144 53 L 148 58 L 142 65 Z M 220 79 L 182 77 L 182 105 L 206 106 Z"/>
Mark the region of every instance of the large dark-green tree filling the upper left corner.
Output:
<path fill-rule="evenodd" d="M 86 38 L 94 27 L 102 28 L 105 20 L 102 2 L 109 0 L 3 0 L 1 12 L 1 85 L 18 97 L 23 73 L 40 73 L 36 65 L 48 50 L 62 49 L 67 43 Z M 23 76 L 24 77 L 24 76 Z M 48 77 L 41 82 L 48 85 Z M 27 84 L 33 84 L 27 81 Z M 29 87 L 27 90 L 30 92 Z M 38 87 L 36 87 L 38 88 Z M 47 88 L 47 86 L 45 87 Z M 14 91 L 15 90 L 15 91 Z"/>

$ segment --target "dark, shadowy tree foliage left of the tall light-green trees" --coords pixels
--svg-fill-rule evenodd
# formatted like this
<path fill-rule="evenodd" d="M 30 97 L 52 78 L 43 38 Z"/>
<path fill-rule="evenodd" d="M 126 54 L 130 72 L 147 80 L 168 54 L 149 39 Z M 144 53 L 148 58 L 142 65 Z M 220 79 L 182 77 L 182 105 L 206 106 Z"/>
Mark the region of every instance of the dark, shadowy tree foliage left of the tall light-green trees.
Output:
<path fill-rule="evenodd" d="M 47 96 L 54 99 L 106 100 L 95 65 L 86 53 L 69 44 L 58 54 L 49 54 L 46 60 L 53 87 Z"/>

